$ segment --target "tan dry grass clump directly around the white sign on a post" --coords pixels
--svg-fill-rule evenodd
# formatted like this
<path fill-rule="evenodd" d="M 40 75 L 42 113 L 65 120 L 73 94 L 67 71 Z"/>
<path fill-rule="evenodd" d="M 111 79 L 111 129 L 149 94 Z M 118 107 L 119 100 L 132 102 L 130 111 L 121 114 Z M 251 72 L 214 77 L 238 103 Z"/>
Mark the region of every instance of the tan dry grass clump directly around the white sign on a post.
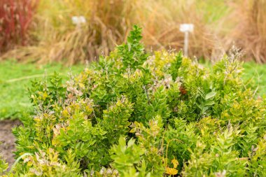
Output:
<path fill-rule="evenodd" d="M 214 36 L 204 22 L 204 15 L 197 9 L 196 1 L 146 1 L 149 13 L 143 15 L 139 2 L 136 6 L 137 22 L 144 27 L 144 43 L 155 50 L 162 48 L 183 48 L 184 34 L 180 24 L 192 23 L 195 31 L 190 34 L 190 57 L 210 57 L 214 49 Z"/>

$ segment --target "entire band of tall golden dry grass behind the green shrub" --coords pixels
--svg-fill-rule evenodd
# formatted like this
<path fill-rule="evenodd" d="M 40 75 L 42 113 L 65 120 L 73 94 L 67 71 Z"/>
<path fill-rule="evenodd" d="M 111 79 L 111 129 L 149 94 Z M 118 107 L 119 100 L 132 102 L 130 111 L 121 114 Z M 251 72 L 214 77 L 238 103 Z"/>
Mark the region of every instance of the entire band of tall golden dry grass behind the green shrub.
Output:
<path fill-rule="evenodd" d="M 219 58 L 235 43 L 246 58 L 265 60 L 266 0 L 40 0 L 31 31 L 34 44 L 3 58 L 75 64 L 108 54 L 134 24 L 143 28 L 147 50 L 183 48 L 182 23 L 193 23 L 190 57 Z M 74 15 L 87 22 L 76 27 Z"/>

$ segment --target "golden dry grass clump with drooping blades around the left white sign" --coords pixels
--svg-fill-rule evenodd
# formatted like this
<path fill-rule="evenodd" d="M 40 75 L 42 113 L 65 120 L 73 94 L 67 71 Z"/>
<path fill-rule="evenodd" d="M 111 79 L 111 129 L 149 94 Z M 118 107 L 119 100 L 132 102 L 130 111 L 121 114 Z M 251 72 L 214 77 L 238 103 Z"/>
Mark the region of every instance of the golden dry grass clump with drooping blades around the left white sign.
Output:
<path fill-rule="evenodd" d="M 15 57 L 22 62 L 63 62 L 71 65 L 93 60 L 108 53 L 116 43 L 123 42 L 126 26 L 122 0 L 109 1 L 42 1 L 36 15 L 34 35 L 38 45 L 11 50 L 3 57 Z M 85 15 L 86 24 L 76 27 L 73 15 Z"/>

